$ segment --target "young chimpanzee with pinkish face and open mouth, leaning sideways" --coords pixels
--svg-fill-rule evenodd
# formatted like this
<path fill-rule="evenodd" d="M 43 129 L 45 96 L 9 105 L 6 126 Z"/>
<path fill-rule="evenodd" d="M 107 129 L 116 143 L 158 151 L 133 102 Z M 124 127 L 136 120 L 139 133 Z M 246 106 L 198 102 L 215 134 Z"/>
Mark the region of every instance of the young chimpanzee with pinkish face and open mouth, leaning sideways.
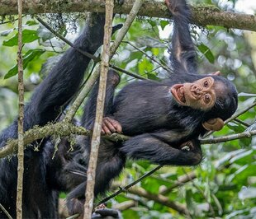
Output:
<path fill-rule="evenodd" d="M 232 83 L 218 73 L 197 74 L 196 51 L 188 26 L 191 12 L 186 1 L 165 2 L 174 21 L 169 49 L 173 73 L 170 72 L 169 78 L 162 82 L 130 83 L 114 101 L 118 76 L 115 72 L 109 73 L 102 133 L 122 131 L 130 139 L 126 142 L 102 140 L 97 163 L 96 195 L 107 189 L 110 180 L 119 175 L 126 157 L 162 165 L 198 165 L 202 157 L 198 137 L 207 130 L 220 130 L 223 121 L 230 118 L 237 108 L 237 91 Z M 92 128 L 96 98 L 97 85 L 84 109 L 82 123 L 86 128 Z M 89 148 L 83 147 L 83 150 L 82 158 L 81 153 L 77 154 L 77 159 L 81 159 L 77 170 L 86 169 L 88 164 Z M 70 165 L 70 172 L 75 173 L 76 170 L 72 169 Z M 85 186 L 86 181 L 69 193 L 70 213 L 83 212 Z"/>

